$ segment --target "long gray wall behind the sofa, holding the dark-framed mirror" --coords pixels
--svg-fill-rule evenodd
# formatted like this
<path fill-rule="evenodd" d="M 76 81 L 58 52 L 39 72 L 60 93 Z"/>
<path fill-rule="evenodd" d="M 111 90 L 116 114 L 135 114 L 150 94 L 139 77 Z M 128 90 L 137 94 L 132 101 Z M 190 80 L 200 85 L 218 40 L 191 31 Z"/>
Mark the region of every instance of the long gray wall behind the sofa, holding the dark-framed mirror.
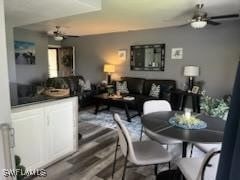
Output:
<path fill-rule="evenodd" d="M 113 78 L 135 76 L 156 79 L 175 79 L 181 88 L 185 82 L 183 67 L 200 66 L 200 77 L 212 96 L 231 93 L 237 62 L 240 56 L 240 21 L 225 22 L 195 30 L 189 26 L 161 28 L 103 35 L 83 36 L 63 41 L 63 46 L 76 47 L 76 72 L 92 82 L 105 78 L 104 63 L 116 64 Z M 166 43 L 164 72 L 130 71 L 129 48 L 136 44 Z M 184 60 L 172 60 L 171 48 L 182 47 Z M 127 60 L 119 61 L 117 51 L 127 49 Z"/>

